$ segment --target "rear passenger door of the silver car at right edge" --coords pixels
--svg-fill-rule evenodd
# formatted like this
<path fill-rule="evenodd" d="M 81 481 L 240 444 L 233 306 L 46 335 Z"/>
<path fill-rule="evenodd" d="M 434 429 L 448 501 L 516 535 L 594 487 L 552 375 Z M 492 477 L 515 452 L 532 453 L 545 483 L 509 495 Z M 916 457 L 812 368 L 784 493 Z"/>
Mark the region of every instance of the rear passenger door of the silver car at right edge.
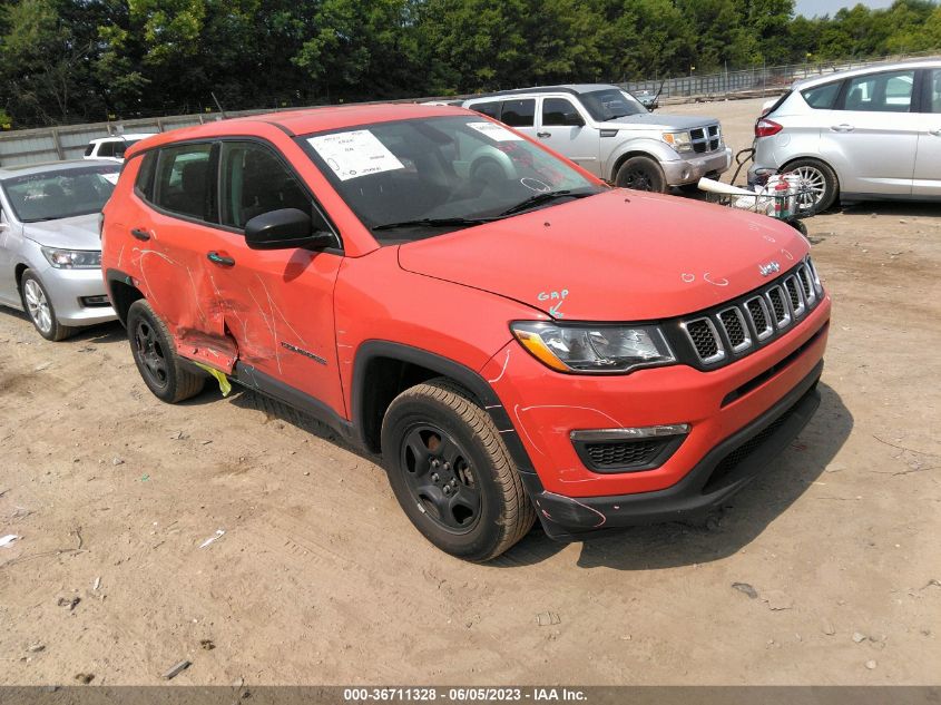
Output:
<path fill-rule="evenodd" d="M 847 78 L 832 124 L 821 131 L 821 154 L 837 168 L 849 194 L 912 193 L 921 116 L 914 69 Z"/>

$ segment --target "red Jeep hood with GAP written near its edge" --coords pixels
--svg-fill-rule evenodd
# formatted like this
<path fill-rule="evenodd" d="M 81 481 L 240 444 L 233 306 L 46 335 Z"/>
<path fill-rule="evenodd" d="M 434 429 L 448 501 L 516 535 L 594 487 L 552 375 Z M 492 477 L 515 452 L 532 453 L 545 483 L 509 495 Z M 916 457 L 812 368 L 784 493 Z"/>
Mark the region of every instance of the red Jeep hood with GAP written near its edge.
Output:
<path fill-rule="evenodd" d="M 759 265 L 808 249 L 767 216 L 611 189 L 401 245 L 399 263 L 567 321 L 648 321 L 745 294 L 776 276 Z"/>

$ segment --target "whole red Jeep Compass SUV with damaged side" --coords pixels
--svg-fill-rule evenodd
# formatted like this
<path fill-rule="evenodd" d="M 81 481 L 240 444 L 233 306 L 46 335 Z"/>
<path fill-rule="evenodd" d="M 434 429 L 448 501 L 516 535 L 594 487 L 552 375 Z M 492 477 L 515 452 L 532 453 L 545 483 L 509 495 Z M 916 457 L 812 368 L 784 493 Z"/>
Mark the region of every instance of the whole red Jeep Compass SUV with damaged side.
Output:
<path fill-rule="evenodd" d="M 610 188 L 483 116 L 360 106 L 134 145 L 102 270 L 145 383 L 370 451 L 471 560 L 705 512 L 819 404 L 830 297 L 771 218 Z"/>

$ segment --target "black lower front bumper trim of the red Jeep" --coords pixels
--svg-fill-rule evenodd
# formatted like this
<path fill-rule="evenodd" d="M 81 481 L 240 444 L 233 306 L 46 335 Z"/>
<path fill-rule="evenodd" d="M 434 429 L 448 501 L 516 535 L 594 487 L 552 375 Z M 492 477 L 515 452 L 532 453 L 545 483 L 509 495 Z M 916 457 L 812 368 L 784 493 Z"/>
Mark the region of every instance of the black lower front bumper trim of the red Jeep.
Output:
<path fill-rule="evenodd" d="M 806 425 L 820 405 L 816 384 L 822 370 L 823 361 L 774 407 L 713 448 L 670 488 L 578 499 L 531 491 L 546 532 L 559 540 L 580 539 L 587 533 L 708 513 L 757 477 Z"/>

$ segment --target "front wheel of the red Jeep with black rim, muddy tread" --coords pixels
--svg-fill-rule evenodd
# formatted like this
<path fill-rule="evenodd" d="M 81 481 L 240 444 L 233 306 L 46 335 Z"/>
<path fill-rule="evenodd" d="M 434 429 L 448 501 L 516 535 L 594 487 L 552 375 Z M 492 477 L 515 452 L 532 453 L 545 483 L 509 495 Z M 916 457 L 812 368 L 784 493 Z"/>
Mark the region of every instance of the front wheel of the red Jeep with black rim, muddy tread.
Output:
<path fill-rule="evenodd" d="M 382 456 L 402 510 L 452 556 L 490 560 L 532 528 L 532 505 L 500 433 L 449 380 L 412 386 L 392 401 Z"/>

